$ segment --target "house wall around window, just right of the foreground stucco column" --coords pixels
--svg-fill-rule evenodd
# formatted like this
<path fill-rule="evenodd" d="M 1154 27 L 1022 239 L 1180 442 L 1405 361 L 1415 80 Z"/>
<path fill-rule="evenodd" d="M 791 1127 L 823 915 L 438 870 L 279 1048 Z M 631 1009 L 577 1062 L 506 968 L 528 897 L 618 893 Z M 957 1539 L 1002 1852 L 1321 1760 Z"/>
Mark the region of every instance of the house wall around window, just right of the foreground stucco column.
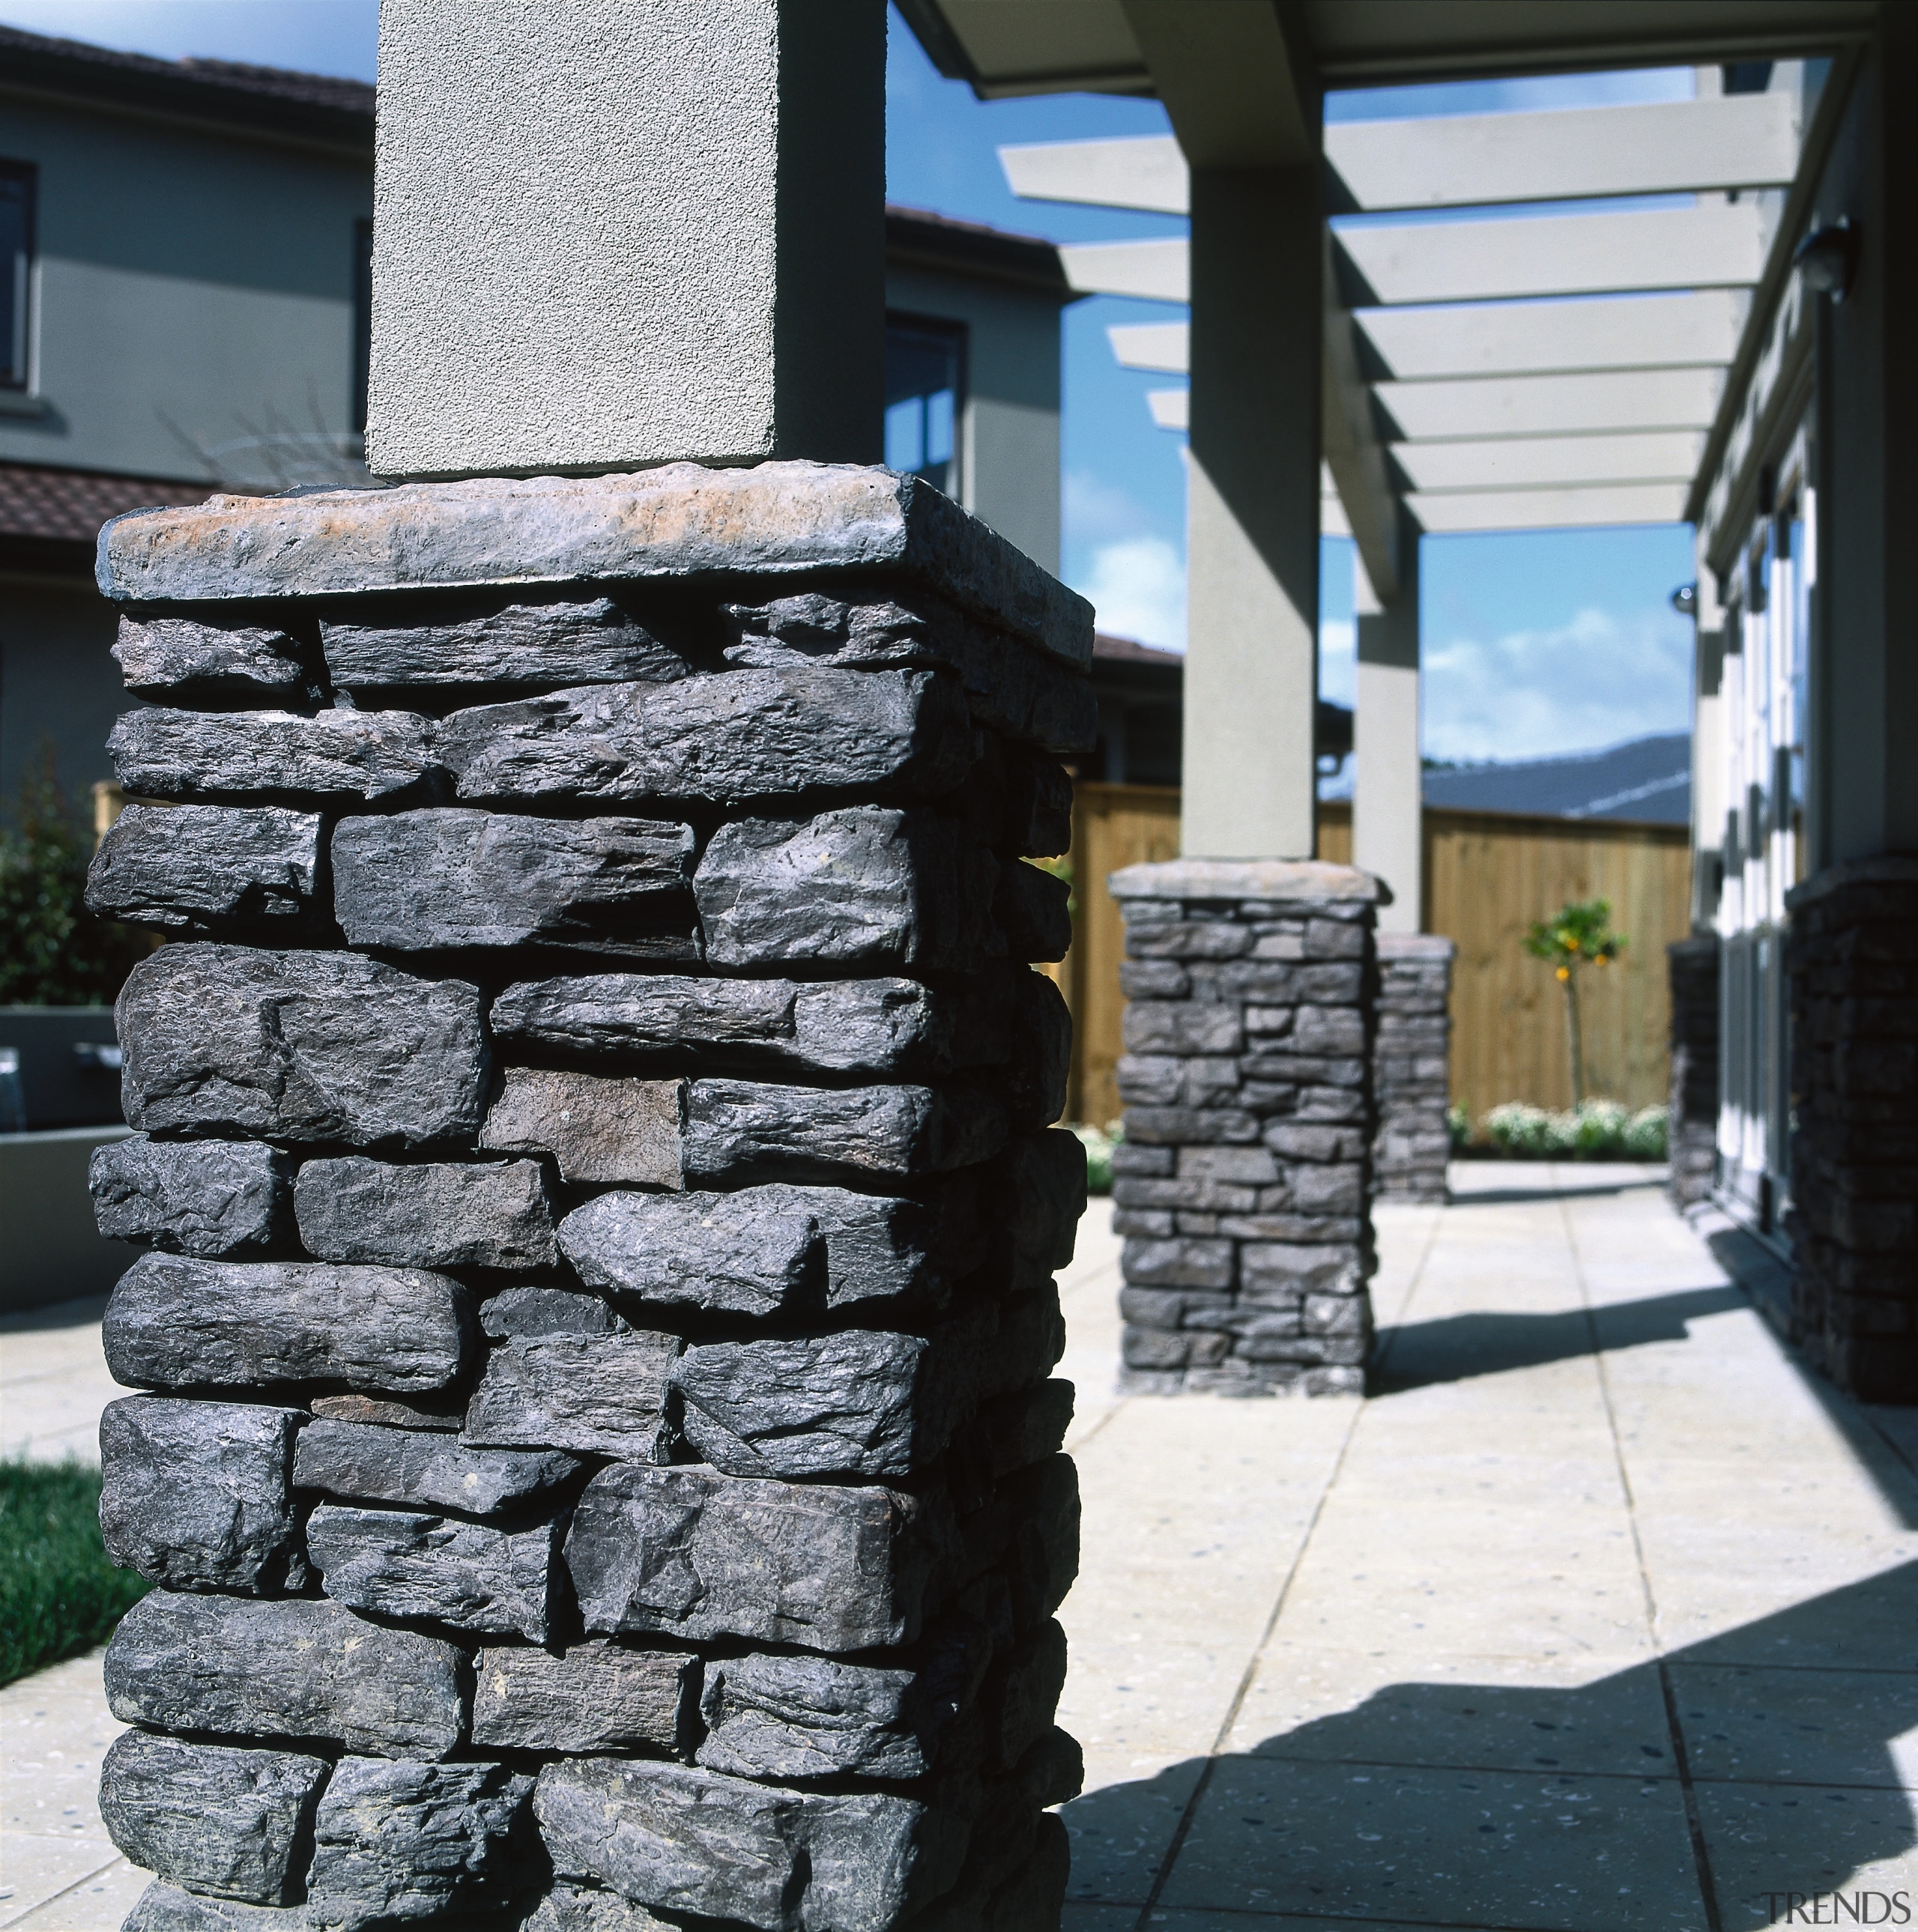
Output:
<path fill-rule="evenodd" d="M 887 309 L 966 325 L 960 498 L 1058 570 L 1058 303 L 1014 282 L 888 265 Z"/>

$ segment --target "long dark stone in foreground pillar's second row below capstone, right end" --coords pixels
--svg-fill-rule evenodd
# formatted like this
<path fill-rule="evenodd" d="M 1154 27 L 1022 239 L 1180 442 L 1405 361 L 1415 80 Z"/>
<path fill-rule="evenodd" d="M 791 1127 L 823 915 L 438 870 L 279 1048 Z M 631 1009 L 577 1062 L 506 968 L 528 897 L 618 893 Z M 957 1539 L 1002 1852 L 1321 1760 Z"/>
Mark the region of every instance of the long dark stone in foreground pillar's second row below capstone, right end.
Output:
<path fill-rule="evenodd" d="M 958 684 L 925 670 L 722 670 L 454 711 L 435 755 L 471 800 L 937 798 L 973 759 Z"/>

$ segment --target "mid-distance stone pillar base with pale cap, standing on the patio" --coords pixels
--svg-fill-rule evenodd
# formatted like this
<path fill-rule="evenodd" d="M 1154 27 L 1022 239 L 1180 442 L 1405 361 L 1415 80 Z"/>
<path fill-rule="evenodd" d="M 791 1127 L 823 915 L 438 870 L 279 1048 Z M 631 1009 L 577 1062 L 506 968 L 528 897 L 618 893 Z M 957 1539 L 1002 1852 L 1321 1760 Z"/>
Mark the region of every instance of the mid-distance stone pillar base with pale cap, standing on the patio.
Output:
<path fill-rule="evenodd" d="M 1379 885 L 1348 866 L 1113 873 L 1126 920 L 1122 1381 L 1362 1393 Z"/>

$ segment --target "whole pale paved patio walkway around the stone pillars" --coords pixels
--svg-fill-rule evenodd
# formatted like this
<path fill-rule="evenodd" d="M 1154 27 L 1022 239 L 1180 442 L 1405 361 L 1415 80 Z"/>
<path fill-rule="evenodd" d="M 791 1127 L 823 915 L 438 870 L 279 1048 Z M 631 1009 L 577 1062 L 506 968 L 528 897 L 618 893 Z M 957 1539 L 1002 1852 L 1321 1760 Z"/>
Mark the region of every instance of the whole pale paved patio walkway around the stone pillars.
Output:
<path fill-rule="evenodd" d="M 1087 1215 L 1068 1932 L 1906 1922 L 1918 1418 L 1800 1376 L 1642 1169 L 1454 1188 L 1379 1213 L 1366 1403 L 1113 1397 Z M 8 1329 L 6 1441 L 83 1447 L 97 1327 Z M 97 1658 L 0 1690 L 0 1928 L 137 1895 L 116 1729 Z"/>

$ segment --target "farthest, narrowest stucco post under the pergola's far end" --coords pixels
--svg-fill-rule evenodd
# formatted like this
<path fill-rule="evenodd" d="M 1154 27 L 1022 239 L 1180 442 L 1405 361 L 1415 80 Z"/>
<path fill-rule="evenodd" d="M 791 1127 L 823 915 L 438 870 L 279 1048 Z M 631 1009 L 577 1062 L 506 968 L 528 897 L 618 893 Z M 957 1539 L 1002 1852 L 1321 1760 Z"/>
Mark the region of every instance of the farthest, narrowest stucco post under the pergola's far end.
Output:
<path fill-rule="evenodd" d="M 1381 605 L 1352 558 L 1358 692 L 1352 713 L 1352 864 L 1393 889 L 1381 933 L 1416 933 L 1424 906 L 1418 709 L 1418 524 L 1398 510 L 1398 595 Z"/>

